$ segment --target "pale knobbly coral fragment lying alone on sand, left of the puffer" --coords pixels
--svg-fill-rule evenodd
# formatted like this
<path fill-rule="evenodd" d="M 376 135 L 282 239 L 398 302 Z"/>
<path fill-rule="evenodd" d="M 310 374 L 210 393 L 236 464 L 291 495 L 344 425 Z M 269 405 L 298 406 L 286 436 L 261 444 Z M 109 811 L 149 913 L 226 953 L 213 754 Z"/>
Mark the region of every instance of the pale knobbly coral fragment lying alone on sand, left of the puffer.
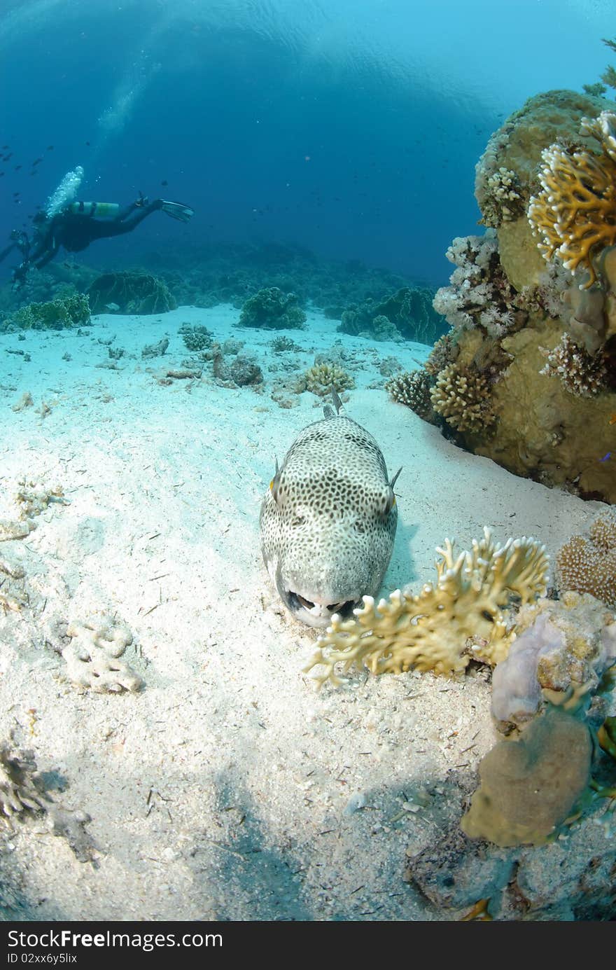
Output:
<path fill-rule="evenodd" d="M 139 691 L 143 679 L 118 660 L 133 642 L 130 630 L 102 615 L 67 627 L 71 642 L 63 648 L 67 673 L 78 687 L 90 688 L 96 694 L 118 694 Z"/>

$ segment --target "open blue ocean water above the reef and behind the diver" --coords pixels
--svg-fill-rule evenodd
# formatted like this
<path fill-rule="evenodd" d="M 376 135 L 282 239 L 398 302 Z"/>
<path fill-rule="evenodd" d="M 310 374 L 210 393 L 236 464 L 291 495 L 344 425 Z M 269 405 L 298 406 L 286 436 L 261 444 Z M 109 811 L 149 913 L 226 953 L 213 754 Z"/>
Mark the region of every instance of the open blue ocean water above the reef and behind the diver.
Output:
<path fill-rule="evenodd" d="M 586 0 L 4 0 L 0 240 L 81 165 L 81 197 L 196 211 L 90 264 L 292 242 L 439 285 L 490 134 L 537 91 L 597 81 L 612 21 Z"/>

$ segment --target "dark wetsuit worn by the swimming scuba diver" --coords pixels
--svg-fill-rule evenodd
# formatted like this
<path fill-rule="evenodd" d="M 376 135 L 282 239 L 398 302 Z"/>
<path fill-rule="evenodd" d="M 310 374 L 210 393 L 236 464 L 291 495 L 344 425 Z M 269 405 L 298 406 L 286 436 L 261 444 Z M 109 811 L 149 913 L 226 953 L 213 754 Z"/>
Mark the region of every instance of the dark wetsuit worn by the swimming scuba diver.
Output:
<path fill-rule="evenodd" d="M 146 205 L 132 202 L 130 206 L 120 210 L 113 219 L 105 220 L 97 219 L 96 212 L 91 215 L 81 212 L 58 212 L 41 227 L 39 239 L 28 264 L 40 270 L 53 259 L 62 245 L 69 252 L 81 252 L 81 249 L 86 249 L 94 240 L 130 233 L 140 222 L 143 222 L 146 215 L 162 207 L 162 199 L 154 199 Z"/>

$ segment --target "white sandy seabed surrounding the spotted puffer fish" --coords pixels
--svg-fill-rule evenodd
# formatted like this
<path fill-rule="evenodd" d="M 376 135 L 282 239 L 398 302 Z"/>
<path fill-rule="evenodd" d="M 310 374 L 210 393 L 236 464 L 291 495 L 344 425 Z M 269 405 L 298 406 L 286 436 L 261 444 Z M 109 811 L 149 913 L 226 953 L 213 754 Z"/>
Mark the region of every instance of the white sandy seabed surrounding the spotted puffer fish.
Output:
<path fill-rule="evenodd" d="M 30 601 L 0 610 L 0 740 L 34 752 L 52 797 L 91 817 L 94 847 L 81 860 L 44 816 L 0 823 L 5 919 L 452 918 L 405 882 L 405 859 L 451 822 L 451 773 L 475 772 L 495 742 L 489 684 L 481 671 L 461 682 L 357 673 L 317 693 L 302 673 L 315 633 L 270 586 L 258 517 L 275 456 L 322 402 L 306 392 L 279 407 L 270 394 L 289 373 L 278 369 L 292 360 L 304 371 L 336 339 L 352 351 L 347 413 L 390 472 L 404 467 L 384 593 L 418 589 L 445 536 L 468 548 L 484 525 L 499 540 L 534 535 L 554 555 L 598 503 L 465 453 L 368 386 L 382 385 L 382 359 L 412 370 L 428 347 L 338 335 L 312 312 L 306 331 L 286 334 L 304 352 L 276 355 L 276 332 L 238 329 L 237 318 L 179 307 L 0 338 L 0 518 L 16 518 L 24 478 L 70 501 L 0 544 Z M 263 391 L 221 387 L 211 365 L 201 380 L 158 383 L 162 365 L 188 356 L 182 322 L 245 340 Z M 164 336 L 165 357 L 142 359 Z M 113 337 L 125 350 L 117 370 L 97 368 L 110 359 L 99 341 Z M 34 406 L 13 410 L 24 392 Z M 139 693 L 67 679 L 62 624 L 100 613 L 133 634 L 123 660 L 144 678 Z"/>

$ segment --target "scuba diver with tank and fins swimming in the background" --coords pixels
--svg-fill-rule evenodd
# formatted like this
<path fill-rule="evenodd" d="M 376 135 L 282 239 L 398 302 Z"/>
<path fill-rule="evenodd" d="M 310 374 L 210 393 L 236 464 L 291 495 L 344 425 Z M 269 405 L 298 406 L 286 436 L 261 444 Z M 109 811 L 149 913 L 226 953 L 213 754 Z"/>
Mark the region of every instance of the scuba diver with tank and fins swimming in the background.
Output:
<path fill-rule="evenodd" d="M 180 222 L 188 222 L 194 215 L 190 206 L 180 202 L 154 199 L 153 202 L 142 195 L 124 209 L 112 202 L 72 202 L 54 214 L 41 210 L 34 217 L 34 241 L 27 248 L 15 242 L 10 248 L 18 246 L 24 255 L 23 262 L 14 271 L 14 286 L 22 286 L 30 267 L 38 270 L 46 266 L 57 254 L 60 246 L 69 252 L 81 252 L 94 240 L 108 239 L 130 233 L 143 222 L 150 212 L 161 210 Z M 7 255 L 10 249 L 4 252 Z M 3 253 L 0 253 L 3 258 Z"/>

